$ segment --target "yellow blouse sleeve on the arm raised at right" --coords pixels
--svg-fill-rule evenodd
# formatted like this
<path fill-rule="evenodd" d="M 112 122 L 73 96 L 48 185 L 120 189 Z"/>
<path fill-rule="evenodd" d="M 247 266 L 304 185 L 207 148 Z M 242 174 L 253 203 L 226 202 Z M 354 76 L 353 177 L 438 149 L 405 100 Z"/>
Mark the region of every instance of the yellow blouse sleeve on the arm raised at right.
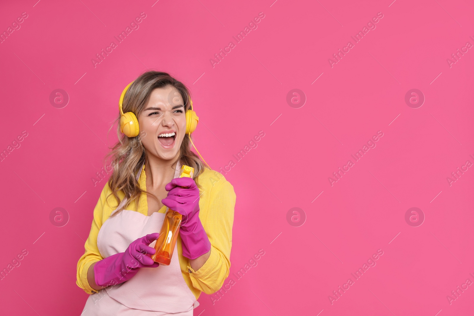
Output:
<path fill-rule="evenodd" d="M 210 257 L 198 271 L 189 261 L 187 267 L 192 285 L 206 294 L 217 292 L 229 275 L 235 203 L 234 187 L 228 181 L 216 182 L 202 223 L 211 244 Z"/>

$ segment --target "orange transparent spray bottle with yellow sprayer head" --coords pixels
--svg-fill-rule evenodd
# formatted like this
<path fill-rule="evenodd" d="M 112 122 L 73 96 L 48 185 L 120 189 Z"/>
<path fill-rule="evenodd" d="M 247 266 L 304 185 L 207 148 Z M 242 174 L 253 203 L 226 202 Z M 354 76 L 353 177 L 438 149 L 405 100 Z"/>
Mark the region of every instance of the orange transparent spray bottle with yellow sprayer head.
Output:
<path fill-rule="evenodd" d="M 181 167 L 180 178 L 194 175 L 194 168 L 183 165 Z M 177 211 L 166 208 L 163 226 L 161 227 L 160 236 L 156 240 L 156 253 L 151 258 L 160 264 L 169 265 L 173 256 L 174 245 L 178 239 L 179 227 L 181 225 L 182 215 Z"/>

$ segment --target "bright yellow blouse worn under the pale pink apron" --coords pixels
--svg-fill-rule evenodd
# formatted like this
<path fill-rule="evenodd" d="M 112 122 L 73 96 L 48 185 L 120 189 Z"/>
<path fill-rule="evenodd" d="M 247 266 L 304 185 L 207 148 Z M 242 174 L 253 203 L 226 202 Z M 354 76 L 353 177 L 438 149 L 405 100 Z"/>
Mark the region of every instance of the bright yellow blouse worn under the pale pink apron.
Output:
<path fill-rule="evenodd" d="M 146 190 L 145 165 L 138 182 L 140 188 Z M 181 235 L 178 235 L 177 239 L 182 277 L 196 299 L 201 295 L 201 291 L 206 294 L 217 292 L 229 275 L 232 226 L 234 224 L 234 206 L 236 202 L 234 187 L 221 173 L 205 168 L 204 172 L 198 177 L 198 183 L 202 186 L 202 189 L 200 189 L 199 218 L 211 244 L 210 257 L 198 271 L 194 271 L 189 259 L 182 255 Z M 97 248 L 97 235 L 102 224 L 109 218 L 112 211 L 118 207 L 113 195 L 109 197 L 106 203 L 107 196 L 111 192 L 109 184 L 106 183 L 94 208 L 91 232 L 84 244 L 85 253 L 77 262 L 76 284 L 88 294 L 95 293 L 97 290 L 92 289 L 89 285 L 87 271 L 93 262 L 103 259 Z M 125 194 L 119 191 L 118 196 L 121 200 L 125 197 Z M 142 192 L 137 204 L 130 202 L 127 209 L 148 216 L 146 193 Z M 161 213 L 165 211 L 166 207 L 159 210 Z"/>

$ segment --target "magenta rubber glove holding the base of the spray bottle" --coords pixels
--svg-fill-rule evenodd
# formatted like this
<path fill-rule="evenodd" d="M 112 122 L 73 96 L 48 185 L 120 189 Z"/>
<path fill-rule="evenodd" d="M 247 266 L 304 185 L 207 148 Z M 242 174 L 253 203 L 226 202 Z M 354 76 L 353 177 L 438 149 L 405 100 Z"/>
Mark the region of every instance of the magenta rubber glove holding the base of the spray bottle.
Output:
<path fill-rule="evenodd" d="M 155 248 L 148 246 L 158 239 L 159 233 L 148 234 L 128 245 L 124 253 L 116 253 L 104 258 L 94 265 L 94 279 L 99 286 L 109 286 L 130 280 L 139 268 L 155 268 L 160 264 L 154 262 L 150 255 Z"/>

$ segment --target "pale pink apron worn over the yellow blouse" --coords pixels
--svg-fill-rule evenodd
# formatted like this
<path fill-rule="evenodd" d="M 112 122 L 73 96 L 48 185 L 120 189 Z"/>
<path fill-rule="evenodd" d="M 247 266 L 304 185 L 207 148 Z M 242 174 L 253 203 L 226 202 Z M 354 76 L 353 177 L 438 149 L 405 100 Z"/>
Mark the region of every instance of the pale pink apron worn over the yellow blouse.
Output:
<path fill-rule="evenodd" d="M 180 168 L 181 163 L 178 162 L 174 178 L 179 176 Z M 137 174 L 137 180 L 142 169 Z M 125 205 L 126 201 L 123 199 L 120 206 Z M 145 216 L 133 210 L 120 211 L 100 227 L 97 236 L 100 255 L 107 258 L 125 252 L 134 240 L 160 232 L 163 221 L 164 213 Z M 155 244 L 156 241 L 150 247 Z M 81 316 L 191 316 L 198 306 L 199 302 L 182 277 L 176 243 L 169 266 L 140 268 L 130 280 L 89 295 Z"/>

